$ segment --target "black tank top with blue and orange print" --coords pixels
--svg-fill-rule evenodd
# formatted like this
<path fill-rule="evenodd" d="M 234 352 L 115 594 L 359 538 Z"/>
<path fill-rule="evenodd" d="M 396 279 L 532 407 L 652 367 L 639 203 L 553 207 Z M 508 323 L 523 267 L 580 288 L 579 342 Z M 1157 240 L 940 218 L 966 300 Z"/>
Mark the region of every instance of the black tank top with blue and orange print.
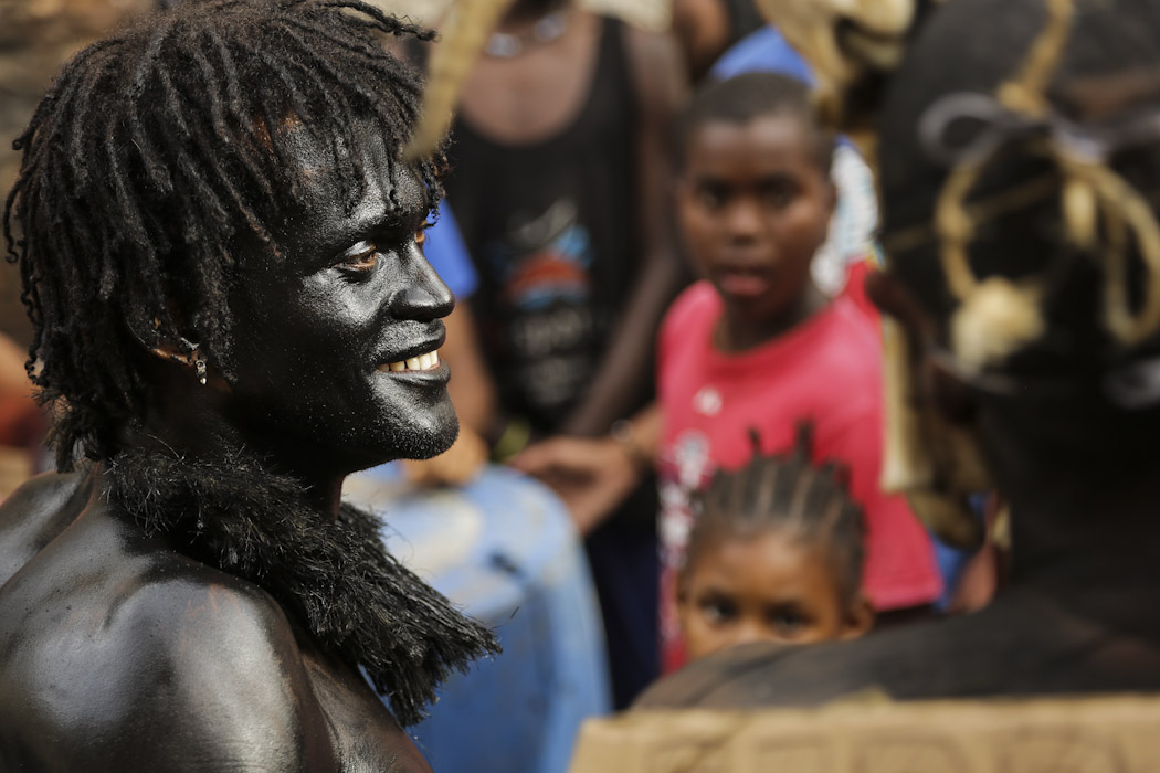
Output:
<path fill-rule="evenodd" d="M 573 122 L 508 145 L 452 127 L 447 198 L 480 283 L 471 298 L 506 411 L 553 431 L 588 387 L 640 262 L 636 99 L 624 28 L 602 20 Z"/>

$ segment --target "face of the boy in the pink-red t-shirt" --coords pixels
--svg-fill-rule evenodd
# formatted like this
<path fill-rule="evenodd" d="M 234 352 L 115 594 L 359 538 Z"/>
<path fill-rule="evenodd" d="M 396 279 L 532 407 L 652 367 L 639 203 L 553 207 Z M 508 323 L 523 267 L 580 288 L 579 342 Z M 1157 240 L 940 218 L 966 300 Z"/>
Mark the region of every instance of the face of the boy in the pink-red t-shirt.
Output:
<path fill-rule="evenodd" d="M 677 211 L 693 260 L 727 312 L 761 324 L 809 287 L 834 187 L 798 117 L 711 119 L 689 136 Z"/>

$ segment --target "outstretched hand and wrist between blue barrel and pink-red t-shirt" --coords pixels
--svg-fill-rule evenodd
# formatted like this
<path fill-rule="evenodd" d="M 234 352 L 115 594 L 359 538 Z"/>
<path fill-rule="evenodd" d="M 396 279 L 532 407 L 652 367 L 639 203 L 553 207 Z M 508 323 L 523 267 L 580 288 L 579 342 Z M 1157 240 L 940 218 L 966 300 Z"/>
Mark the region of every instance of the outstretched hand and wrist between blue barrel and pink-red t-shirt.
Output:
<path fill-rule="evenodd" d="M 552 487 L 567 505 L 577 530 L 599 526 L 655 465 L 661 414 L 655 403 L 600 438 L 553 437 L 516 455 L 512 466 Z"/>

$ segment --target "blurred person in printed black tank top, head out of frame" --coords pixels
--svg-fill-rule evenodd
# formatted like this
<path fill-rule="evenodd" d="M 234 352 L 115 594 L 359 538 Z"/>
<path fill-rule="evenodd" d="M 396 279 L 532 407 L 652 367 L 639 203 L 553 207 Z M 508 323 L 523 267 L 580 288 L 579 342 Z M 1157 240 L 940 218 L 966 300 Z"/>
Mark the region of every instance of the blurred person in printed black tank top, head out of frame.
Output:
<path fill-rule="evenodd" d="M 500 29 L 466 85 L 447 180 L 499 424 L 599 436 L 651 396 L 657 326 L 683 279 L 666 168 L 681 67 L 661 36 L 559 3 L 517 2 Z M 619 707 L 659 668 L 653 483 L 578 525 Z"/>

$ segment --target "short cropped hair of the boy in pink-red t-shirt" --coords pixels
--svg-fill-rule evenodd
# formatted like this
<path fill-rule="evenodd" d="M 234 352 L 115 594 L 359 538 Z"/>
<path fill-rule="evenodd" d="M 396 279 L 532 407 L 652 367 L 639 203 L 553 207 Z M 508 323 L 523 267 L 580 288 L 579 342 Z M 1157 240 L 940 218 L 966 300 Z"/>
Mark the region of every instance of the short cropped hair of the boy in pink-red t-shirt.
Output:
<path fill-rule="evenodd" d="M 833 131 L 821 126 L 810 103 L 810 87 L 781 73 L 753 72 L 710 81 L 694 94 L 676 124 L 675 168 L 684 169 L 689 139 L 701 126 L 722 121 L 747 124 L 763 116 L 790 116 L 802 122 L 818 168 L 829 174 L 834 160 Z"/>

